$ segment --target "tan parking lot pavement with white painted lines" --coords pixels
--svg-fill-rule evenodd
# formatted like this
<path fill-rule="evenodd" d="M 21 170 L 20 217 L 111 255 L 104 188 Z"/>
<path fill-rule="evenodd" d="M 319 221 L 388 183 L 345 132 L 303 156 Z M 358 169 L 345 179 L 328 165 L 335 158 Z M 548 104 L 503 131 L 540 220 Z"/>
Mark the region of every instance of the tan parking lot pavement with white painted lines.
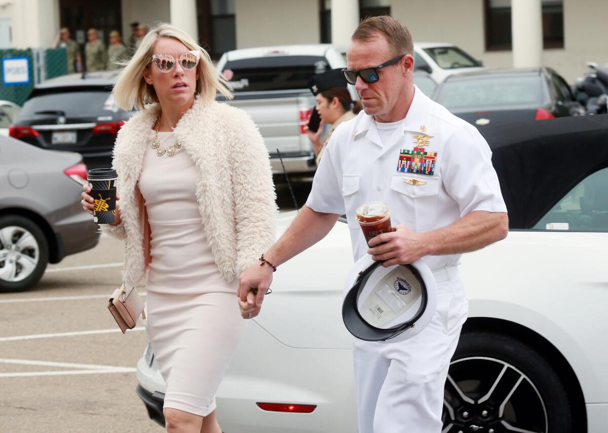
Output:
<path fill-rule="evenodd" d="M 294 190 L 302 206 L 309 185 Z M 277 195 L 283 211 L 295 209 L 286 185 Z M 135 393 L 147 334 L 138 325 L 123 335 L 106 308 L 122 256 L 122 241 L 102 237 L 30 291 L 0 293 L 0 432 L 163 431 Z"/>

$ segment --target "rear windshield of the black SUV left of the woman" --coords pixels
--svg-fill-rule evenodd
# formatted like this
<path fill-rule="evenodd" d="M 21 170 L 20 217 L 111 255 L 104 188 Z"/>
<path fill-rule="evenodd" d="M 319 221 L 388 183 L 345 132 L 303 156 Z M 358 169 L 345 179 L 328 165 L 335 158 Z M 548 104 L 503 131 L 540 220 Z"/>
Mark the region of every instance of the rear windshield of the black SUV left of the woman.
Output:
<path fill-rule="evenodd" d="M 36 91 L 34 91 L 36 92 Z M 120 108 L 114 103 L 109 91 L 74 89 L 47 89 L 34 93 L 23 105 L 20 119 L 30 119 L 39 116 L 65 116 L 65 117 L 98 117 L 113 116 Z M 63 112 L 63 113 L 60 113 Z"/>

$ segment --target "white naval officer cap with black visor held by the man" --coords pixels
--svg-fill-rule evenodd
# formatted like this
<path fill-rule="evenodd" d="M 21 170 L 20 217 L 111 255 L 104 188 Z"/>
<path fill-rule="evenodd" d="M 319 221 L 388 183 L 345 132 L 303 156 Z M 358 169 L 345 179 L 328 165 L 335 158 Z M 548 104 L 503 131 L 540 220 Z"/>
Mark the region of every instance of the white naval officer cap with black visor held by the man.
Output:
<path fill-rule="evenodd" d="M 437 310 L 437 283 L 426 263 L 388 268 L 364 255 L 345 283 L 342 319 L 364 341 L 401 342 L 419 334 Z"/>

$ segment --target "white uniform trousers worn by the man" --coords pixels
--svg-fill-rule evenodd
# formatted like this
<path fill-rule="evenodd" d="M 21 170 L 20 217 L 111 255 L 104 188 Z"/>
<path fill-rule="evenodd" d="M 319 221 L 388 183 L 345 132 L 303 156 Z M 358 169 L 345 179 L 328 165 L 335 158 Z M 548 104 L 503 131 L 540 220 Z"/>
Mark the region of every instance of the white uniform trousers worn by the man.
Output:
<path fill-rule="evenodd" d="M 359 433 L 440 433 L 449 362 L 468 314 L 457 266 L 433 271 L 437 312 L 424 330 L 398 343 L 354 339 Z"/>

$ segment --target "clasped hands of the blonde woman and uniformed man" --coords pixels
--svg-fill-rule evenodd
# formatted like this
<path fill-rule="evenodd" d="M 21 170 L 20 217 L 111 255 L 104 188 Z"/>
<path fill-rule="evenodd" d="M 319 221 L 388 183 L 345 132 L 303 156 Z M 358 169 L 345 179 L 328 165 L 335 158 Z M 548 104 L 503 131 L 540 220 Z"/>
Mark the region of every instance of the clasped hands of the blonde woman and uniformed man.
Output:
<path fill-rule="evenodd" d="M 252 319 L 262 308 L 266 291 L 272 283 L 272 268 L 266 263 L 256 263 L 245 269 L 238 278 L 238 307 L 243 319 Z"/>

